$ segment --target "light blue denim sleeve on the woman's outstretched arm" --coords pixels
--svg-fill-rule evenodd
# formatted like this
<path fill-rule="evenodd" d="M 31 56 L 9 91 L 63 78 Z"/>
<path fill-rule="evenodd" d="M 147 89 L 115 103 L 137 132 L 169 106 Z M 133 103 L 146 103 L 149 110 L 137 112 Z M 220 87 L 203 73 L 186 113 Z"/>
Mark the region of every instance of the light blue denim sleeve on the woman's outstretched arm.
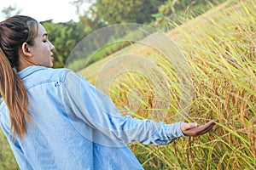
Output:
<path fill-rule="evenodd" d="M 115 147 L 132 141 L 169 144 L 183 136 L 181 122 L 166 124 L 121 116 L 106 94 L 73 71 L 67 72 L 63 95 L 65 110 L 73 126 L 97 144 Z"/>

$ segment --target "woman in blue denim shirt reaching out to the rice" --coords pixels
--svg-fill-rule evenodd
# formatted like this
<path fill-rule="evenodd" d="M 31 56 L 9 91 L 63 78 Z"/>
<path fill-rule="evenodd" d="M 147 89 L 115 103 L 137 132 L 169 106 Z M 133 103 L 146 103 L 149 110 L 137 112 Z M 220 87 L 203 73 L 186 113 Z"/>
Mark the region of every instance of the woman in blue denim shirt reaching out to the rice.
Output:
<path fill-rule="evenodd" d="M 214 125 L 120 116 L 83 77 L 51 68 L 54 46 L 30 17 L 1 22 L 0 40 L 0 123 L 20 169 L 143 169 L 125 143 L 169 144 Z"/>

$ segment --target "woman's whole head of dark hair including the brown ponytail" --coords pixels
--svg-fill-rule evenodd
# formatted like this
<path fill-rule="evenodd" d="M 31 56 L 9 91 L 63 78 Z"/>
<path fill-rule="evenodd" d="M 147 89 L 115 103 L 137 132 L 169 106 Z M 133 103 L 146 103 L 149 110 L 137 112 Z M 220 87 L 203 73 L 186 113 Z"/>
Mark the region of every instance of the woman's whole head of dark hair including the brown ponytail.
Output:
<path fill-rule="evenodd" d="M 0 22 L 0 92 L 9 109 L 14 137 L 23 137 L 26 121 L 31 122 L 26 88 L 15 70 L 20 67 L 23 42 L 33 45 L 37 34 L 38 21 L 28 16 L 15 15 Z"/>

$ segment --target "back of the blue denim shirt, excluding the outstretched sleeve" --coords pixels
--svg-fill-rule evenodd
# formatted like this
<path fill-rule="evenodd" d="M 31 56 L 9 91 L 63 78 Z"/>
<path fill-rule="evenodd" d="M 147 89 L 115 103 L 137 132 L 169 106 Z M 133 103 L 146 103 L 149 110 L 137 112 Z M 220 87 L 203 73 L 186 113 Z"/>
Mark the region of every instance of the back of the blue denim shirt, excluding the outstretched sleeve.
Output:
<path fill-rule="evenodd" d="M 19 137 L 15 140 L 11 139 L 8 134 L 10 128 L 8 109 L 5 105 L 1 105 L 1 126 L 3 132 L 9 136 L 9 142 L 20 168 L 142 168 L 125 144 L 108 147 L 96 144 L 91 140 L 91 136 L 86 138 L 80 133 L 86 131 L 86 135 L 93 135 L 96 129 L 79 118 L 71 120 L 67 116 L 65 105 L 68 104 L 64 103 L 63 94 L 63 83 L 67 73 L 66 69 L 49 69 L 41 66 L 31 66 L 20 71 L 19 75 L 27 89 L 30 102 L 28 111 L 32 119 L 32 123 L 26 125 L 24 139 Z"/>

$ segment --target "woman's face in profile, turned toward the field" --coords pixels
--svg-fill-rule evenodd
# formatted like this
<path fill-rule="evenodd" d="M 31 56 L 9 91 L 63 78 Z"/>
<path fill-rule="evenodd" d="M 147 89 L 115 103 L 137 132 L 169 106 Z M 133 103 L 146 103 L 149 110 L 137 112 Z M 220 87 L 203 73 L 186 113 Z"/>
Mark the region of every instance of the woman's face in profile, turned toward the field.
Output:
<path fill-rule="evenodd" d="M 48 40 L 48 34 L 44 26 L 38 24 L 38 36 L 34 38 L 34 45 L 29 48 L 34 64 L 52 67 L 54 59 L 52 50 L 54 48 L 53 44 Z"/>

